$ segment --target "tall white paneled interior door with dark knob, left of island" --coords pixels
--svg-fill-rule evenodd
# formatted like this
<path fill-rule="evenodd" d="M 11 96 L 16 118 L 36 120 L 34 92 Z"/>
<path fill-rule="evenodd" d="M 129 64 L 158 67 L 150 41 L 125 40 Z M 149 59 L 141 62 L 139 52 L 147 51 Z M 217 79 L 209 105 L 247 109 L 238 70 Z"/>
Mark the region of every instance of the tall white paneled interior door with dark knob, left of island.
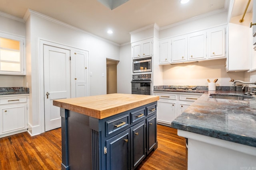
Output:
<path fill-rule="evenodd" d="M 44 45 L 44 123 L 45 131 L 61 127 L 56 99 L 70 98 L 70 50 Z"/>

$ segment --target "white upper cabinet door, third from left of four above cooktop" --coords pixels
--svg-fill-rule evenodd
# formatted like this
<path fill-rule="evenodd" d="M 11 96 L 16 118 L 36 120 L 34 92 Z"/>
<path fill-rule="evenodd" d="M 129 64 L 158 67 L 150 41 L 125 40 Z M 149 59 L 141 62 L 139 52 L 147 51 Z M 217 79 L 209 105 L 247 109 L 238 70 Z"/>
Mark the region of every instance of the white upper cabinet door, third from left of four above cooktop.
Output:
<path fill-rule="evenodd" d="M 188 61 L 206 59 L 206 31 L 188 35 Z"/>

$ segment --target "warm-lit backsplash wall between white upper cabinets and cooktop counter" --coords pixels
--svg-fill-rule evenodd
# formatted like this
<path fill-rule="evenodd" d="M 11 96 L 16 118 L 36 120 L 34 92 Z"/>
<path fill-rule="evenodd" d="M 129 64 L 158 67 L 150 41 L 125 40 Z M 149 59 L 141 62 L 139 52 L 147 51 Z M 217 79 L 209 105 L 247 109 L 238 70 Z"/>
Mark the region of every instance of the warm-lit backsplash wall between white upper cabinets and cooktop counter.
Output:
<path fill-rule="evenodd" d="M 226 72 L 226 59 L 163 66 L 163 85 L 208 86 L 207 79 L 218 78 L 216 86 L 230 86 L 230 79 L 244 81 L 244 72 Z"/>

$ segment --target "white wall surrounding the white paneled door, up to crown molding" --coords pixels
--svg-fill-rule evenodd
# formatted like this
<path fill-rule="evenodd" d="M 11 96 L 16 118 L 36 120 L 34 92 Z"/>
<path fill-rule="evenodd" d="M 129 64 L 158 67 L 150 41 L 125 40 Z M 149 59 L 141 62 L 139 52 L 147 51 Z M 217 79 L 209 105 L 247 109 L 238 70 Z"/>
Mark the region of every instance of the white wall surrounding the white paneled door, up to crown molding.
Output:
<path fill-rule="evenodd" d="M 31 11 L 30 11 L 31 12 Z M 45 19 L 36 12 L 31 12 L 26 20 L 27 47 L 26 47 L 26 67 L 27 76 L 24 82 L 28 82 L 30 87 L 30 113 L 29 123 L 32 126 L 32 135 L 38 133 L 42 115 L 41 98 L 44 92 L 41 92 L 40 86 L 44 83 L 40 79 L 43 72 L 40 72 L 40 45 L 39 40 L 43 39 L 54 43 L 59 43 L 69 47 L 84 49 L 89 51 L 89 72 L 90 76 L 90 96 L 106 94 L 106 58 L 119 61 L 119 46 L 103 41 L 93 35 L 66 27 L 62 23 L 58 24 L 52 19 Z M 33 132 L 33 127 L 37 128 Z"/>

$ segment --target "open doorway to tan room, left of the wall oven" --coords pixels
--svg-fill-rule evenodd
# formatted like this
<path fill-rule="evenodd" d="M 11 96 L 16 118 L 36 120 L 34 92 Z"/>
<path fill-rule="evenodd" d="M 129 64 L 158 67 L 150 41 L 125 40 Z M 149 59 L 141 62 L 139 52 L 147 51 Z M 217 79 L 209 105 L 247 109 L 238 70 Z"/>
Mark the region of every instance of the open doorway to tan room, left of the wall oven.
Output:
<path fill-rule="evenodd" d="M 107 63 L 107 94 L 117 93 L 117 63 L 116 60 L 106 59 Z"/>

